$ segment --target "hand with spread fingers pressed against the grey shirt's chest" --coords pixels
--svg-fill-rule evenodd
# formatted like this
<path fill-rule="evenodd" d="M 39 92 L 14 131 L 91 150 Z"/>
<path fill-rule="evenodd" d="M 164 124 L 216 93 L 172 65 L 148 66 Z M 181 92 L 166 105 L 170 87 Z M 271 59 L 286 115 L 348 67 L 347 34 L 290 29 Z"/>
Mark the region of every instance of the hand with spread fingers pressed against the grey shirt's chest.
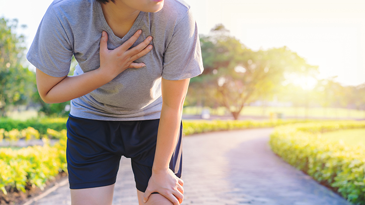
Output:
<path fill-rule="evenodd" d="M 100 39 L 100 73 L 112 80 L 127 68 L 145 67 L 146 65 L 144 63 L 133 62 L 152 50 L 152 45 L 148 45 L 152 40 L 152 36 L 148 36 L 145 41 L 129 49 L 141 34 L 142 30 L 138 30 L 121 46 L 114 50 L 109 50 L 107 45 L 108 34 L 103 31 Z"/>

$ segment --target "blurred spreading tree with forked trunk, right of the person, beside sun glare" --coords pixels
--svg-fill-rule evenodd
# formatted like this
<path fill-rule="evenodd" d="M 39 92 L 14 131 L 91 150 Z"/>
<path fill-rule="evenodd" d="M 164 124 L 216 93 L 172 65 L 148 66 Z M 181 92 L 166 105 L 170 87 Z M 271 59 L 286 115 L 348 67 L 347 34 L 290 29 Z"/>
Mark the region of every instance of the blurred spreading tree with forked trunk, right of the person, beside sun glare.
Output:
<path fill-rule="evenodd" d="M 285 73 L 317 70 L 287 47 L 252 51 L 219 24 L 211 35 L 201 37 L 205 89 L 238 119 L 243 107 L 257 99 L 270 99 L 285 79 Z M 198 80 L 197 79 L 197 80 Z M 209 96 L 206 96 L 209 97 Z"/>

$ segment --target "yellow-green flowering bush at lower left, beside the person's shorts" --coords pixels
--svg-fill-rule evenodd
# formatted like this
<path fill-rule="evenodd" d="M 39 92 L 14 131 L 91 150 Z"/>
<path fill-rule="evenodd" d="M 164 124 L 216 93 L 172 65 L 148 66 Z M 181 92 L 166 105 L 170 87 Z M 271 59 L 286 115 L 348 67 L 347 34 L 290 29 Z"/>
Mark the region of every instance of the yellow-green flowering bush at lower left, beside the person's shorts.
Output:
<path fill-rule="evenodd" d="M 13 133 L 15 135 L 16 132 Z M 60 141 L 53 146 L 44 137 L 43 146 L 29 146 L 18 150 L 0 148 L 0 190 L 5 194 L 9 188 L 25 192 L 27 185 L 42 189 L 60 171 L 67 172 L 66 131 L 57 135 L 60 136 Z"/>

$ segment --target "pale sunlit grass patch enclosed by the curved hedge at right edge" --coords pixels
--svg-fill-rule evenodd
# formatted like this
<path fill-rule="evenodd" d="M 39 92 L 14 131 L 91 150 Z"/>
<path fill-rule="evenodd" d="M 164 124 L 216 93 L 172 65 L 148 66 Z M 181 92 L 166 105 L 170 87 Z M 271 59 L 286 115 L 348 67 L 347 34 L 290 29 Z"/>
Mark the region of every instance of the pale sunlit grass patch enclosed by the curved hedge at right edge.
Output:
<path fill-rule="evenodd" d="M 365 145 L 365 129 L 350 129 L 322 134 L 322 137 L 331 141 L 343 141 L 349 145 Z"/>

